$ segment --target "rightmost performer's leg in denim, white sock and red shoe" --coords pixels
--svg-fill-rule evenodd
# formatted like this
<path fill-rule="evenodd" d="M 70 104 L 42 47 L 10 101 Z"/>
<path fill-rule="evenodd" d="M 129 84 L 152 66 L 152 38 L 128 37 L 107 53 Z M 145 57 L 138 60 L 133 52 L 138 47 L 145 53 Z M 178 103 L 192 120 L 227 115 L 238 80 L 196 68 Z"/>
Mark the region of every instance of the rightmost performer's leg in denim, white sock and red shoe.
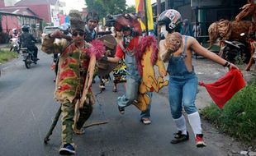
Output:
<path fill-rule="evenodd" d="M 197 147 L 204 147 L 206 143 L 202 140 L 201 119 L 195 105 L 197 96 L 197 77 L 187 80 L 183 87 L 183 105 L 187 112 L 188 122 L 192 126 L 192 131 L 195 135 Z"/>

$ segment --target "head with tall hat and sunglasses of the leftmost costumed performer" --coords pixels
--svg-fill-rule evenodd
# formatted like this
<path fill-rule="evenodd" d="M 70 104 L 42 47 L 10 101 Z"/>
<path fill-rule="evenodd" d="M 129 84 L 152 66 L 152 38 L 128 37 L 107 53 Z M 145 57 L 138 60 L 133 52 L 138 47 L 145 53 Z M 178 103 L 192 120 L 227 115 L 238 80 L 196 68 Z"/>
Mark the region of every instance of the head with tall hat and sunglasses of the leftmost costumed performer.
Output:
<path fill-rule="evenodd" d="M 78 10 L 69 11 L 69 21 L 72 38 L 75 44 L 83 44 L 84 38 L 84 22 Z"/>

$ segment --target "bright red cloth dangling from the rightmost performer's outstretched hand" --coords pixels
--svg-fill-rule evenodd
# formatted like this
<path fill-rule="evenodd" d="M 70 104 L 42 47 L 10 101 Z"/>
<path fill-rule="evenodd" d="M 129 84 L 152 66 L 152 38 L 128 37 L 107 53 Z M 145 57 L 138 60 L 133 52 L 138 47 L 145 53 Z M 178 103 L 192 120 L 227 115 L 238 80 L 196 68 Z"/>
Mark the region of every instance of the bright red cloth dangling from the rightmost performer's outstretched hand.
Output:
<path fill-rule="evenodd" d="M 219 80 L 211 84 L 199 82 L 198 85 L 206 87 L 211 99 L 222 109 L 224 104 L 245 85 L 243 74 L 237 69 L 231 69 Z"/>

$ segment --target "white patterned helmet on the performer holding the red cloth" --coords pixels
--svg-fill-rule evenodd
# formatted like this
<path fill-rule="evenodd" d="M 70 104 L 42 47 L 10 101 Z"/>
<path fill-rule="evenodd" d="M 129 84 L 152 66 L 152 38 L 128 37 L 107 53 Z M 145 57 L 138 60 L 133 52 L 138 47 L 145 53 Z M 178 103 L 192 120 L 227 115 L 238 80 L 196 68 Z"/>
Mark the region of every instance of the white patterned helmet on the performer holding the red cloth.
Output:
<path fill-rule="evenodd" d="M 168 9 L 159 16 L 159 25 L 165 25 L 168 33 L 171 33 L 173 30 L 180 32 L 182 23 L 183 18 L 181 14 L 174 9 Z"/>

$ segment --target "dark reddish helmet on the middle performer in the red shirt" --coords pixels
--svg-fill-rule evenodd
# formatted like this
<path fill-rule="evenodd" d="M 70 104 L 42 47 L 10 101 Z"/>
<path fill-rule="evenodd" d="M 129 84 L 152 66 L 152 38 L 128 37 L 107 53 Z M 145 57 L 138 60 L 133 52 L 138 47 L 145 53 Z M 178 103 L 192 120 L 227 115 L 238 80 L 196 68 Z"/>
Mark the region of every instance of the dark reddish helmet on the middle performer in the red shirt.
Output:
<path fill-rule="evenodd" d="M 122 14 L 117 16 L 114 27 L 116 28 L 116 31 L 129 29 L 132 31 L 133 36 L 138 36 L 142 32 L 140 22 L 133 14 Z"/>

